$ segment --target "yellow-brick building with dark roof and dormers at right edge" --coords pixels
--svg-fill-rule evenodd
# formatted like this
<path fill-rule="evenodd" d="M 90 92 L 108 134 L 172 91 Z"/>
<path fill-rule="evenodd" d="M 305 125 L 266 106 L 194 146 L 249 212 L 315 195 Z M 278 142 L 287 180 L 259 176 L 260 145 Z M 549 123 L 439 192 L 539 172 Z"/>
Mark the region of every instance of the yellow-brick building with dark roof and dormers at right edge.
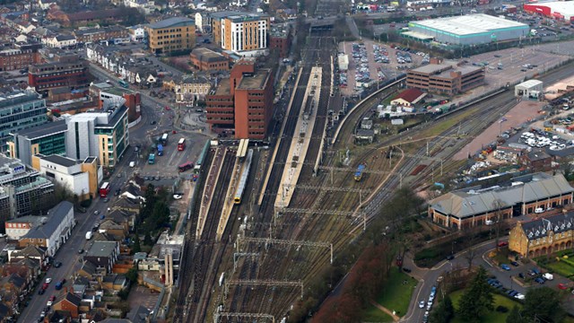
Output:
<path fill-rule="evenodd" d="M 510 231 L 509 249 L 525 258 L 535 258 L 572 248 L 574 214 L 557 214 L 529 222 L 518 222 Z"/>

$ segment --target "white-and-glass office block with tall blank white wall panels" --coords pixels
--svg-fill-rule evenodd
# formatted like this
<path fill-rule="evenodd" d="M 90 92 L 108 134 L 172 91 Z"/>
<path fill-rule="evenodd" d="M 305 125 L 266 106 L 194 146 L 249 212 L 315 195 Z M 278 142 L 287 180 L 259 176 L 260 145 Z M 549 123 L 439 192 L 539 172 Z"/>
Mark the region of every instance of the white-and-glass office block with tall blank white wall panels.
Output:
<path fill-rule="evenodd" d="M 85 112 L 66 118 L 66 156 L 85 160 L 96 156 L 100 165 L 114 167 L 129 144 L 127 108 L 111 106 L 106 112 Z"/>

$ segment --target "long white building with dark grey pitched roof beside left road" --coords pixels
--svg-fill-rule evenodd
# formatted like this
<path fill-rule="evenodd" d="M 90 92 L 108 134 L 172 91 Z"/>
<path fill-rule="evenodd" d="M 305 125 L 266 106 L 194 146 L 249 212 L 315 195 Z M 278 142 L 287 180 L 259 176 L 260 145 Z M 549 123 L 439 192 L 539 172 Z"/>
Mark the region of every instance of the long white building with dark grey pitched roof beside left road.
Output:
<path fill-rule="evenodd" d="M 14 221 L 17 222 L 18 219 Z M 8 224 L 21 223 L 5 223 L 6 228 Z M 18 244 L 20 247 L 32 244 L 46 248 L 46 254 L 53 257 L 57 249 L 60 249 L 72 235 L 74 225 L 74 205 L 67 201 L 60 202 L 49 210 L 46 216 L 40 216 L 39 223 L 30 225 L 30 229 L 20 238 Z"/>

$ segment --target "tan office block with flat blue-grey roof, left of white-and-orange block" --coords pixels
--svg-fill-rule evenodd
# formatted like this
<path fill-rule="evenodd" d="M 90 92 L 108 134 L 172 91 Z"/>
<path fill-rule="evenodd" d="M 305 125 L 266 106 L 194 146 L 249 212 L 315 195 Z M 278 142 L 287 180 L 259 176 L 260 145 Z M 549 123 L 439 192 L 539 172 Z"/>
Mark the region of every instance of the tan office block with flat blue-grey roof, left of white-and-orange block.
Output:
<path fill-rule="evenodd" d="M 186 17 L 173 17 L 145 26 L 148 45 L 153 54 L 188 51 L 196 47 L 196 22 Z"/>

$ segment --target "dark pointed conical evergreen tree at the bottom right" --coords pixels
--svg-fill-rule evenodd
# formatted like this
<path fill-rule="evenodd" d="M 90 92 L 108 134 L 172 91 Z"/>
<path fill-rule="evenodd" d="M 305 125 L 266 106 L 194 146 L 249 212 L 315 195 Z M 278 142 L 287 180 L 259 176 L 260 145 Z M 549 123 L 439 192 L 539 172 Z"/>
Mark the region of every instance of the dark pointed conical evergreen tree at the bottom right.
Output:
<path fill-rule="evenodd" d="M 481 266 L 473 282 L 458 301 L 458 313 L 466 322 L 479 322 L 488 310 L 493 310 L 491 286 L 486 282 L 486 270 Z"/>

